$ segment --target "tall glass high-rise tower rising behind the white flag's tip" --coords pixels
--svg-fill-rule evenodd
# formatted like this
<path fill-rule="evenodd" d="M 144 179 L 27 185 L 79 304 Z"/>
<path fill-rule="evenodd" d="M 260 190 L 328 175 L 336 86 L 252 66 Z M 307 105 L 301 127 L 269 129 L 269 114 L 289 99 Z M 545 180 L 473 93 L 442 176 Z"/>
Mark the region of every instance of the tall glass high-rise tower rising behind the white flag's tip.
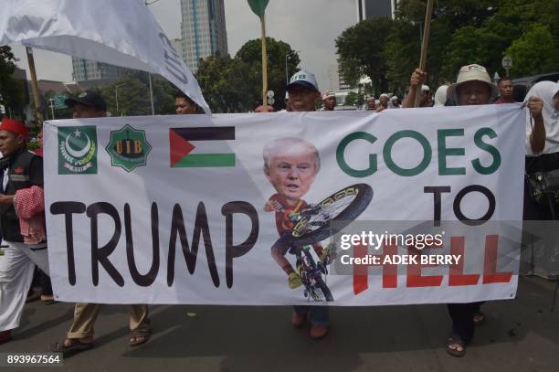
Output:
<path fill-rule="evenodd" d="M 181 0 L 181 14 L 182 57 L 189 69 L 198 69 L 201 58 L 227 54 L 224 0 Z"/>

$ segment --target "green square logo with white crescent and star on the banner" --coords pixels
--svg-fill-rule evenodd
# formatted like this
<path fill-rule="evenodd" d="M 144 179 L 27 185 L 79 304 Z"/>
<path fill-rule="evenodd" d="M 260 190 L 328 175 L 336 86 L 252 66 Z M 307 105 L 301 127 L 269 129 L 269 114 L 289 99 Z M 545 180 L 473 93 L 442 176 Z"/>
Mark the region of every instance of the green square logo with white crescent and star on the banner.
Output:
<path fill-rule="evenodd" d="M 58 175 L 97 174 L 95 126 L 58 128 Z"/>

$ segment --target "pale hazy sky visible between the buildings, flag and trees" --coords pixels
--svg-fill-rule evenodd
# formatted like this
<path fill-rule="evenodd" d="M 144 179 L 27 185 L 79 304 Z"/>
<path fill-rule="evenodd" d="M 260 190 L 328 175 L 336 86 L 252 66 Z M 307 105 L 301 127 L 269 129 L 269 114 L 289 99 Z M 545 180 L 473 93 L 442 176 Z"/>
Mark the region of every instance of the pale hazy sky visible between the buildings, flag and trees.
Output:
<path fill-rule="evenodd" d="M 234 56 L 248 40 L 260 37 L 260 22 L 247 0 L 225 0 L 225 7 L 227 44 L 229 54 Z M 167 37 L 180 37 L 180 0 L 159 0 L 150 9 Z M 335 39 L 356 22 L 355 1 L 270 0 L 266 11 L 267 36 L 300 51 L 300 68 L 316 75 L 321 90 L 329 89 L 328 67 L 335 63 Z M 12 47 L 20 59 L 18 66 L 28 69 L 25 48 Z M 69 56 L 37 49 L 34 56 L 37 79 L 72 80 Z"/>

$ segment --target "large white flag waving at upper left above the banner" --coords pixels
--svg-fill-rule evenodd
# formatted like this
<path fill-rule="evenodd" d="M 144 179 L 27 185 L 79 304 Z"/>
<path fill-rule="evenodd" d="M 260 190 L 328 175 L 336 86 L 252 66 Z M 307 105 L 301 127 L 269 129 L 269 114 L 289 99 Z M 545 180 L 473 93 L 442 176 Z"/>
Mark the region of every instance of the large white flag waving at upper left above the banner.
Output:
<path fill-rule="evenodd" d="M 209 113 L 143 0 L 3 0 L 0 45 L 22 44 L 162 75 Z"/>

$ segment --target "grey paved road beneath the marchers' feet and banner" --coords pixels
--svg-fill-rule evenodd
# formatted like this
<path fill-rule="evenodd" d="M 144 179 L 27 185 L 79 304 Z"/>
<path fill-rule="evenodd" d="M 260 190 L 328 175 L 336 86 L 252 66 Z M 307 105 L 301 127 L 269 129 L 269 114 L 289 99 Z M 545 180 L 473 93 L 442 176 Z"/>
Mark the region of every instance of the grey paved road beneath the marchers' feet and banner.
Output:
<path fill-rule="evenodd" d="M 105 306 L 97 347 L 53 371 L 559 371 L 554 283 L 522 278 L 514 301 L 486 303 L 468 354 L 448 356 L 444 305 L 333 308 L 332 330 L 313 341 L 290 326 L 289 307 L 152 306 L 155 334 L 127 345 L 127 306 Z M 198 314 L 190 317 L 187 313 Z M 29 303 L 14 341 L 0 352 L 43 352 L 65 335 L 70 303 Z M 0 368 L 0 372 L 2 369 Z M 10 370 L 18 370 L 12 368 Z M 28 371 L 28 368 L 19 368 Z"/>

